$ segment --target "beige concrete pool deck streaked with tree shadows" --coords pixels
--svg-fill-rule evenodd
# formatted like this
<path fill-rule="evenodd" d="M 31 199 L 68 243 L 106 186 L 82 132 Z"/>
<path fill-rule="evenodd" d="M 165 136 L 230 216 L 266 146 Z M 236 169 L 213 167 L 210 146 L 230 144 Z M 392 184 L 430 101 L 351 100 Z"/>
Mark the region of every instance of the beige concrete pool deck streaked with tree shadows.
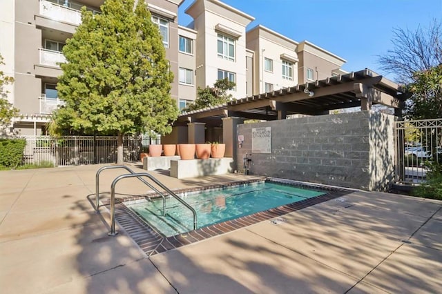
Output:
<path fill-rule="evenodd" d="M 148 258 L 121 228 L 108 237 L 106 208 L 86 198 L 99 167 L 0 171 L 1 293 L 442 293 L 442 202 L 355 191 Z M 101 190 L 122 173 L 104 171 Z"/>

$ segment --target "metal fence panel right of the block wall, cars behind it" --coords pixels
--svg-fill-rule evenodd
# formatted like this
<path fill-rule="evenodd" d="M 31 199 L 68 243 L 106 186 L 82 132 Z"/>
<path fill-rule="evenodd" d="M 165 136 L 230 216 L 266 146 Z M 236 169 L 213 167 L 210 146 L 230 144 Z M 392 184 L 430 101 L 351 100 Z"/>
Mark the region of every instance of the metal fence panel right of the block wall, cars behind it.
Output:
<path fill-rule="evenodd" d="M 396 121 L 396 182 L 425 181 L 425 164 L 442 163 L 442 119 Z"/>

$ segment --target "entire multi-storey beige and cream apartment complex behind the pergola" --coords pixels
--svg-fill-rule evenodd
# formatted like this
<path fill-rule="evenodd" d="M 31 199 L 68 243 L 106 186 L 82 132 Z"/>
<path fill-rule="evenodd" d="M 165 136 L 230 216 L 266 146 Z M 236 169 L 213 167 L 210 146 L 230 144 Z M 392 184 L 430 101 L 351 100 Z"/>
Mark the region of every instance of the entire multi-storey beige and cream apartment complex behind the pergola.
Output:
<path fill-rule="evenodd" d="M 190 1 L 190 0 L 186 0 Z M 189 26 L 178 23 L 184 0 L 147 0 L 175 75 L 171 96 L 180 109 L 198 87 L 217 79 L 236 83 L 235 98 L 256 95 L 343 73 L 345 60 L 308 41 L 300 43 L 264 26 L 247 30 L 249 14 L 219 0 L 195 0 L 186 9 Z M 8 99 L 20 110 L 13 128 L 21 135 L 46 133 L 57 95 L 61 50 L 81 23 L 81 7 L 100 13 L 104 0 L 1 0 L 2 70 L 15 79 Z"/>

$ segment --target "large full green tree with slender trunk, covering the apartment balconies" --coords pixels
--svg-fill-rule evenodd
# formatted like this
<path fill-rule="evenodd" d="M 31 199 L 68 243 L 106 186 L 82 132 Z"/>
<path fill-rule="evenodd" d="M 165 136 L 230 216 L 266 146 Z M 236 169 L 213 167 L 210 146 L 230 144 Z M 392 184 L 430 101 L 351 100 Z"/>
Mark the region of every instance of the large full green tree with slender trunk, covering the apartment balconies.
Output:
<path fill-rule="evenodd" d="M 57 90 L 66 106 L 54 115 L 59 129 L 116 134 L 119 164 L 125 134 L 170 133 L 178 114 L 160 32 L 144 1 L 134 6 L 107 0 L 96 15 L 83 8 L 63 48 L 67 62 Z"/>

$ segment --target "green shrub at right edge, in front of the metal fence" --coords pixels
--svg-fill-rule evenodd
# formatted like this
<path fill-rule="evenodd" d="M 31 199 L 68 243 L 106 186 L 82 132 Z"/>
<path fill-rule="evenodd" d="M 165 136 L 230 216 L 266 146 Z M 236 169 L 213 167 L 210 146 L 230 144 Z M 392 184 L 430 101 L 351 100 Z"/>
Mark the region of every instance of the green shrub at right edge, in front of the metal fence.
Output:
<path fill-rule="evenodd" d="M 418 197 L 442 200 L 442 164 L 433 162 L 425 163 L 429 168 L 427 181 L 412 190 L 412 194 Z"/>

